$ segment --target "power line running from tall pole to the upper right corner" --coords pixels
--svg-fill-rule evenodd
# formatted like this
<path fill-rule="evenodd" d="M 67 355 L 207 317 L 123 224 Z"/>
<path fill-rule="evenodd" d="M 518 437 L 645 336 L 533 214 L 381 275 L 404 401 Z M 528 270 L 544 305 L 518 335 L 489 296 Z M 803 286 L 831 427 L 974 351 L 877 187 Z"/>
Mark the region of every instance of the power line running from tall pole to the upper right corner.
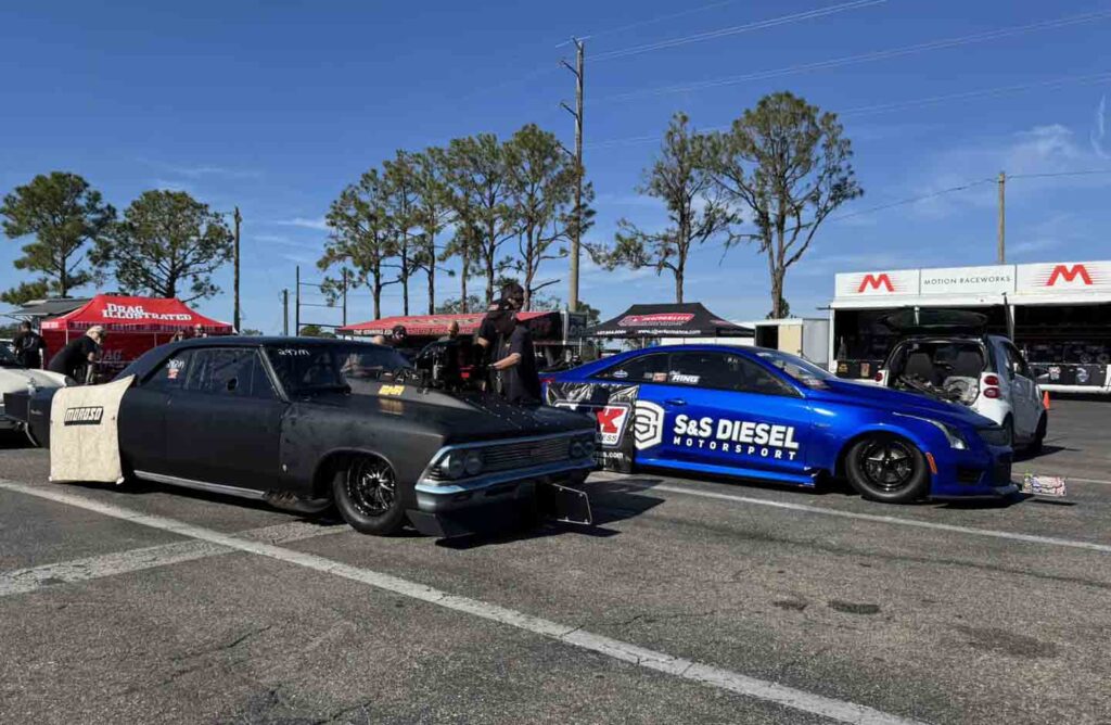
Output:
<path fill-rule="evenodd" d="M 682 93 L 689 91 L 705 90 L 709 88 L 721 88 L 724 86 L 734 86 L 738 83 L 744 83 L 754 80 L 767 80 L 770 78 L 781 78 L 783 76 L 791 76 L 794 73 L 804 73 L 815 70 L 828 70 L 831 68 L 842 68 L 844 66 L 854 66 L 860 63 L 873 62 L 878 60 L 887 60 L 890 58 L 898 58 L 902 56 L 911 56 L 914 53 L 928 52 L 931 50 L 943 50 L 948 48 L 957 48 L 960 46 L 968 46 L 977 42 L 984 42 L 988 40 L 999 40 L 1001 38 L 1010 38 L 1013 36 L 1025 34 L 1030 32 L 1038 32 L 1041 30 L 1053 30 L 1057 28 L 1065 28 L 1070 26 L 1077 26 L 1085 22 L 1093 22 L 1097 20 L 1104 20 L 1111 18 L 1111 10 L 1104 10 L 1100 12 L 1089 12 L 1079 16 L 1068 16 L 1064 18 L 1057 18 L 1054 20 L 1044 20 L 1041 22 L 1029 23 L 1025 26 L 1013 26 L 1010 28 L 1000 28 L 997 30 L 988 30 L 983 32 L 973 33 L 971 36 L 961 36 L 958 38 L 945 38 L 941 40 L 931 40 L 929 42 L 914 43 L 911 46 L 902 46 L 900 48 L 889 48 L 887 50 L 874 50 L 867 53 L 858 53 L 855 56 L 844 56 L 841 58 L 832 58 L 829 60 L 820 60 L 811 63 L 799 63 L 795 66 L 787 66 L 784 68 L 774 68 L 770 70 L 761 70 L 751 73 L 743 73 L 740 76 L 727 76 L 724 78 L 715 78 L 711 80 L 698 81 L 693 83 L 685 83 L 681 86 L 662 86 L 659 88 L 650 88 L 640 91 L 629 91 L 625 93 L 617 93 L 613 96 L 607 96 L 604 98 L 598 99 L 599 102 L 604 101 L 625 101 L 635 98 L 644 98 L 651 96 L 664 96 L 669 93 Z"/>

